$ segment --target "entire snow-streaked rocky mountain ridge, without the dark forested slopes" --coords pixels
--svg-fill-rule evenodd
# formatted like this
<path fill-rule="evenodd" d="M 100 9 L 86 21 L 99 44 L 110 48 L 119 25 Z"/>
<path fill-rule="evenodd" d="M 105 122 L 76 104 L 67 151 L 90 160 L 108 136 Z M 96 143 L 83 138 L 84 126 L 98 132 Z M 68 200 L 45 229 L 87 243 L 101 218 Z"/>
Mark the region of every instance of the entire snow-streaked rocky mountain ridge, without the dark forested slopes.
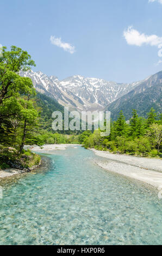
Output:
<path fill-rule="evenodd" d="M 30 77 L 38 92 L 53 97 L 63 106 L 79 111 L 103 109 L 146 81 L 120 84 L 79 75 L 59 81 L 57 77 L 47 76 L 41 71 L 21 72 L 20 75 Z"/>

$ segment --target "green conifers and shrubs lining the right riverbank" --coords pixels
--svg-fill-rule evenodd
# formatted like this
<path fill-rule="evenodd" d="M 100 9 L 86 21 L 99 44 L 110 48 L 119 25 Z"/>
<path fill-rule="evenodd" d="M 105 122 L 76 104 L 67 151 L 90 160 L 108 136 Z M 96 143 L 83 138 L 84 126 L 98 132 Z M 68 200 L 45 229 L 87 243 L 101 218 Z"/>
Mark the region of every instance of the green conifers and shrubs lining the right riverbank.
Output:
<path fill-rule="evenodd" d="M 139 117 L 134 109 L 132 118 L 126 121 L 122 111 L 116 121 L 111 121 L 108 137 L 101 137 L 101 131 L 83 132 L 79 141 L 85 148 L 110 151 L 112 153 L 160 156 L 162 141 L 162 115 L 151 108 L 147 119 Z"/>

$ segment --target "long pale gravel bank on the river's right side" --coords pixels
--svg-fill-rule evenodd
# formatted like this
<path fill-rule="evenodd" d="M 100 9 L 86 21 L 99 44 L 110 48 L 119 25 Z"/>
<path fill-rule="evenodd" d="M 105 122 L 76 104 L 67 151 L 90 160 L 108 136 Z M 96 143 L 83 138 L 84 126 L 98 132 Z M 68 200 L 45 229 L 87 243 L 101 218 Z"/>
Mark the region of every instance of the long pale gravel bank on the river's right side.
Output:
<path fill-rule="evenodd" d="M 91 149 L 95 155 L 102 157 L 96 164 L 110 172 L 132 178 L 162 189 L 162 162 L 160 159 L 146 159 L 129 155 L 115 155 Z"/>

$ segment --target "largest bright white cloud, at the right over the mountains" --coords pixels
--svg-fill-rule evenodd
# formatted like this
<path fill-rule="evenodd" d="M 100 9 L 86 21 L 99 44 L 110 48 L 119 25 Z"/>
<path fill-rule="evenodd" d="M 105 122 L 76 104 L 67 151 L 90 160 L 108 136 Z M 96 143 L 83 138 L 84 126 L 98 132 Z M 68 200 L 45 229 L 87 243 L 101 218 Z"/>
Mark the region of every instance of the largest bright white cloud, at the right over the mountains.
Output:
<path fill-rule="evenodd" d="M 162 37 L 159 37 L 157 35 L 146 35 L 144 33 L 140 33 L 133 27 L 128 27 L 128 29 L 124 31 L 123 36 L 126 39 L 128 45 L 158 46 L 162 43 Z"/>

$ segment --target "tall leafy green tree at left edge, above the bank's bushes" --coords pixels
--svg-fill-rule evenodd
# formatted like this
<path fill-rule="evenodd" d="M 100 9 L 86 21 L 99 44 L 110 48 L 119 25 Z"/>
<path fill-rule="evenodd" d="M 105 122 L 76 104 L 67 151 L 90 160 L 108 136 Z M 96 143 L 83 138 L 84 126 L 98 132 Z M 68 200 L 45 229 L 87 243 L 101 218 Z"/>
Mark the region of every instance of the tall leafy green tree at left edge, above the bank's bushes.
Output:
<path fill-rule="evenodd" d="M 21 48 L 11 46 L 10 51 L 7 51 L 6 47 L 2 48 L 0 56 L 0 142 L 4 145 L 22 143 L 20 139 L 22 123 L 27 120 L 26 123 L 29 124 L 29 115 L 31 120 L 32 115 L 36 117 L 32 103 L 27 103 L 22 96 L 35 95 L 32 80 L 19 75 L 21 70 L 29 70 L 32 65 L 35 66 L 34 61 Z M 27 105 L 30 106 L 28 109 Z M 34 125 L 34 121 L 30 125 Z"/>

